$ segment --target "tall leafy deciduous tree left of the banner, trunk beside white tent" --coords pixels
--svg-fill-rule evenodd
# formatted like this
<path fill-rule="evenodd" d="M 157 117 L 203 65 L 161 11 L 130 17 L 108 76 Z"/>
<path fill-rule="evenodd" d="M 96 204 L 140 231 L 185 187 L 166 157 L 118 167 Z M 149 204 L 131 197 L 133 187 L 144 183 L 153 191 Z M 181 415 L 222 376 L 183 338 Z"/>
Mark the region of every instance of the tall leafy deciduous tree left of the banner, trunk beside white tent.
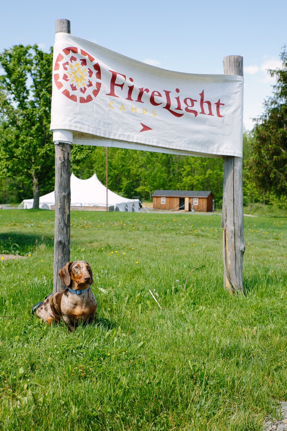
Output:
<path fill-rule="evenodd" d="M 0 54 L 0 66 L 0 175 L 29 176 L 38 208 L 40 189 L 50 191 L 55 176 L 52 49 L 16 45 Z"/>

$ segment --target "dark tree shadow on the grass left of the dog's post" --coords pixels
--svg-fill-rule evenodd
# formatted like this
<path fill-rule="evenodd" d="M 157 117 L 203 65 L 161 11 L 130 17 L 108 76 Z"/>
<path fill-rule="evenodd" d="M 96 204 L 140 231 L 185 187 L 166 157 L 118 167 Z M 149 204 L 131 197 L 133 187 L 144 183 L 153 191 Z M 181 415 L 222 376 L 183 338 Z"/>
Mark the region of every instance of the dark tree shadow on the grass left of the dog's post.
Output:
<path fill-rule="evenodd" d="M 53 236 L 39 234 L 22 234 L 19 232 L 1 233 L 0 253 L 25 255 L 34 251 L 40 244 L 54 246 Z"/>

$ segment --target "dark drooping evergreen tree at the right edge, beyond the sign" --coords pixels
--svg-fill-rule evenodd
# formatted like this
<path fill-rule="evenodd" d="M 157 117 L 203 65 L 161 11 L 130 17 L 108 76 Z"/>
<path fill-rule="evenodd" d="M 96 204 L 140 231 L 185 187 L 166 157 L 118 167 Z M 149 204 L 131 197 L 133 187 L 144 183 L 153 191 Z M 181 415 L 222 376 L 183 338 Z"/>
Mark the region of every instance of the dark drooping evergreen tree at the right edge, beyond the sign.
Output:
<path fill-rule="evenodd" d="M 262 192 L 287 195 L 287 51 L 281 53 L 282 68 L 269 70 L 277 78 L 274 95 L 265 100 L 265 113 L 253 128 L 250 171 Z M 264 199 L 264 198 L 263 198 Z"/>

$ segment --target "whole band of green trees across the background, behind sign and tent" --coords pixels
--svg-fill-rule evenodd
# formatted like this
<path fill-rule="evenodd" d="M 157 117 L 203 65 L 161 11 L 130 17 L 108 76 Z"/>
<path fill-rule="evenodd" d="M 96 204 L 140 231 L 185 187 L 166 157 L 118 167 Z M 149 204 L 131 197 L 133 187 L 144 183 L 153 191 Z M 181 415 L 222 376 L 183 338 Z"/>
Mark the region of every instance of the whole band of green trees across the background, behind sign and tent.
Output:
<path fill-rule="evenodd" d="M 274 94 L 253 131 L 244 132 L 244 205 L 287 202 L 287 51 Z M 54 189 L 55 156 L 49 131 L 52 97 L 52 48 L 16 45 L 0 54 L 0 203 L 16 203 Z M 103 147 L 72 145 L 71 170 L 79 178 L 96 172 L 105 184 Z M 223 159 L 110 148 L 108 187 L 124 196 L 151 200 L 156 189 L 209 190 L 222 205 Z"/>

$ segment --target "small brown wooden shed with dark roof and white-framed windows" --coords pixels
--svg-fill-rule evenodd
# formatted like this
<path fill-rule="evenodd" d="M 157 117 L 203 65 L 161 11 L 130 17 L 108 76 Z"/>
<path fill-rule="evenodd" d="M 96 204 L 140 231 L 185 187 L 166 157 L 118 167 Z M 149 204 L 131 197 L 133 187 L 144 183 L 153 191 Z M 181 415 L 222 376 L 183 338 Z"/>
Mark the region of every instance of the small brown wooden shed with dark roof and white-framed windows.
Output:
<path fill-rule="evenodd" d="M 153 209 L 214 211 L 214 196 L 211 191 L 156 190 L 151 196 Z"/>

